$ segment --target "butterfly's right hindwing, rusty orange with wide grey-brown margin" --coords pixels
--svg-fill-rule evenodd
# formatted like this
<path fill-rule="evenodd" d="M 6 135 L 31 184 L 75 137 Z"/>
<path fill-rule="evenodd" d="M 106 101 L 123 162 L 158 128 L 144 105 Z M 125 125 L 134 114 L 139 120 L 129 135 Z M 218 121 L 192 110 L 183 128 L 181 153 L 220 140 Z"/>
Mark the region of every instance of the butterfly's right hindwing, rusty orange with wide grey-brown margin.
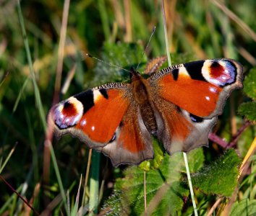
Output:
<path fill-rule="evenodd" d="M 208 134 L 216 124 L 217 117 L 208 120 L 200 117 L 192 118 L 189 112 L 171 102 L 161 98 L 156 99 L 155 102 L 163 125 L 158 126 L 158 140 L 161 140 L 169 154 L 208 146 Z"/>

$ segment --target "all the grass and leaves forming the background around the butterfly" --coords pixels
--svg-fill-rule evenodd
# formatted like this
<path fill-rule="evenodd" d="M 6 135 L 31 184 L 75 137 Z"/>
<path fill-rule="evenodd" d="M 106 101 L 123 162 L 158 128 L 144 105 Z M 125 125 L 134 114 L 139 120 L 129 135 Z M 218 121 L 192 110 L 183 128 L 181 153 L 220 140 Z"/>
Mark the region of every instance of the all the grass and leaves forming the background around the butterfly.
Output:
<path fill-rule="evenodd" d="M 124 68 L 136 66 L 142 59 L 140 71 L 148 59 L 165 55 L 161 1 L 81 0 L 71 1 L 69 6 L 67 1 L 59 0 L 21 1 L 20 6 L 18 2 L 0 1 L 1 176 L 36 212 L 46 215 L 49 212 L 76 215 L 79 210 L 81 215 L 142 214 L 142 168 L 114 168 L 108 158 L 93 153 L 90 175 L 85 181 L 88 148 L 66 136 L 53 140 L 54 154 L 48 147 L 51 131 L 46 128 L 46 114 L 54 100 L 108 81 L 127 80 L 127 74 L 119 69 L 84 58 L 81 53 L 90 53 Z M 256 1 L 174 0 L 165 1 L 165 9 L 173 63 L 234 58 L 242 63 L 244 76 L 248 77 L 244 81 L 244 92 L 232 94 L 214 130 L 227 143 L 234 141 L 230 147 L 238 156 L 234 150 L 226 152 L 226 148 L 216 143 L 189 153 L 200 215 L 210 211 L 256 214 L 255 156 L 248 163 L 242 163 L 248 152 L 252 155 L 252 146 L 255 146 L 252 143 L 255 126 L 247 120 L 253 122 L 256 118 L 256 70 L 253 68 L 256 65 Z M 26 37 L 22 34 L 23 25 Z M 154 26 L 156 31 L 147 56 L 141 58 Z M 239 107 L 240 114 L 237 114 L 242 102 L 247 104 Z M 237 131 L 242 135 L 238 136 Z M 187 177 L 180 162 L 183 158 L 180 154 L 170 157 L 162 153 L 159 157 L 162 164 L 156 161 L 148 166 L 149 212 L 192 215 Z M 177 166 L 179 163 L 182 164 Z M 242 175 L 241 164 L 245 164 Z M 162 178 L 158 176 L 160 171 Z M 81 175 L 81 192 L 77 196 Z M 167 195 L 159 192 L 163 189 Z M 36 212 L 0 181 L 0 215 L 36 215 Z"/>

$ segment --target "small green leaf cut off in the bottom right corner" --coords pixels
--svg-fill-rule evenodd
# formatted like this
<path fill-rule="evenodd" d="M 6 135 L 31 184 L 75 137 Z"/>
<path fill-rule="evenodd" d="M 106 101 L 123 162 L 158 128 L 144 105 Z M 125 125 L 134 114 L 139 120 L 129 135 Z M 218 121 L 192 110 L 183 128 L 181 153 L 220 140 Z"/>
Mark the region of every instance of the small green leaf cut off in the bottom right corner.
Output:
<path fill-rule="evenodd" d="M 256 215 L 256 199 L 243 199 L 236 201 L 231 209 L 230 216 L 252 216 Z"/>

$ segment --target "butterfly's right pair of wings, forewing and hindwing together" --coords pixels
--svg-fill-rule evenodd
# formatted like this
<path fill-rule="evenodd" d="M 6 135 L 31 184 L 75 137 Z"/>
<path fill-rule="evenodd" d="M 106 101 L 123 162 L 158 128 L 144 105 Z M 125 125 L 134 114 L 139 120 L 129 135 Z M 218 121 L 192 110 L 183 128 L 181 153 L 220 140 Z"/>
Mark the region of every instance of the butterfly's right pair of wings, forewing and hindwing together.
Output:
<path fill-rule="evenodd" d="M 163 122 L 158 138 L 168 153 L 188 151 L 208 145 L 226 98 L 242 87 L 242 66 L 230 59 L 200 60 L 163 69 L 150 83 Z"/>

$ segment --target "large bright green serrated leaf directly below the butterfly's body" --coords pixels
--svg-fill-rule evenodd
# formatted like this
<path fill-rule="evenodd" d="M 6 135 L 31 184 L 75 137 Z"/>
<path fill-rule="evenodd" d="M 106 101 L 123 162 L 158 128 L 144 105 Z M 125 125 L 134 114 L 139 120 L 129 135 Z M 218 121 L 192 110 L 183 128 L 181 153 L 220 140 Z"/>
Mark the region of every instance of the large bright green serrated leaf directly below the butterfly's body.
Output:
<path fill-rule="evenodd" d="M 204 161 L 202 148 L 192 150 L 188 156 L 192 171 L 202 166 Z M 148 210 L 151 215 L 174 215 L 184 205 L 183 198 L 189 195 L 187 185 L 183 184 L 184 158 L 182 153 L 173 156 L 167 154 L 158 170 L 146 172 L 146 195 Z M 144 212 L 144 171 L 132 166 L 124 171 L 125 177 L 117 179 L 115 193 L 104 210 L 111 209 L 108 215 L 141 215 Z"/>

